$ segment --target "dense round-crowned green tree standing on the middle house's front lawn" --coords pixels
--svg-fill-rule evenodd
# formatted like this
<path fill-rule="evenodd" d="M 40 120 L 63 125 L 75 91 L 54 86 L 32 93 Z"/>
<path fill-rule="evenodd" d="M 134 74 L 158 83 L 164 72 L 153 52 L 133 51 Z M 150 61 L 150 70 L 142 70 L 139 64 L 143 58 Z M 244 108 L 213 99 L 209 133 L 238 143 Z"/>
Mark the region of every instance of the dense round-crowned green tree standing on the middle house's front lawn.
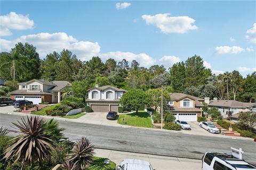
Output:
<path fill-rule="evenodd" d="M 140 89 L 133 89 L 122 96 L 120 103 L 124 108 L 135 109 L 136 114 L 138 114 L 139 107 L 145 105 L 151 106 L 152 100 L 147 92 Z"/>

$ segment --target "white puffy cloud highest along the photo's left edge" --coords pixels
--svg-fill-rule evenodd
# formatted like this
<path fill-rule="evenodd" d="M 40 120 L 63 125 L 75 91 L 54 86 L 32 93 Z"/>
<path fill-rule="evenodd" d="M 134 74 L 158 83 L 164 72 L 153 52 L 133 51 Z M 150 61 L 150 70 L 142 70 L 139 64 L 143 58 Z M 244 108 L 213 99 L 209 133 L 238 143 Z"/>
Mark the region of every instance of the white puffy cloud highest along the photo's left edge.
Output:
<path fill-rule="evenodd" d="M 24 16 L 15 12 L 0 16 L 0 23 L 0 36 L 12 35 L 10 30 L 27 30 L 34 27 L 34 21 L 29 19 L 29 15 Z"/>

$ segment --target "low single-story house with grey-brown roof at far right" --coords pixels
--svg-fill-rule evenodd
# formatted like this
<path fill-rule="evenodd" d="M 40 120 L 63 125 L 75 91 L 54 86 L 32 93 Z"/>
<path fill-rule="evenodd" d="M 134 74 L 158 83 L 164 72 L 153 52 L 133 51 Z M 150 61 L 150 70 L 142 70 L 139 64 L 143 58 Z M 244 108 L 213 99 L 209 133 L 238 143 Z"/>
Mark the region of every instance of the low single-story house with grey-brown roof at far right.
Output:
<path fill-rule="evenodd" d="M 223 117 L 227 118 L 228 111 L 232 112 L 232 115 L 239 112 L 252 111 L 256 112 L 256 103 L 246 103 L 236 100 L 218 100 L 213 98 L 211 101 L 205 101 L 209 107 L 217 107 Z"/>

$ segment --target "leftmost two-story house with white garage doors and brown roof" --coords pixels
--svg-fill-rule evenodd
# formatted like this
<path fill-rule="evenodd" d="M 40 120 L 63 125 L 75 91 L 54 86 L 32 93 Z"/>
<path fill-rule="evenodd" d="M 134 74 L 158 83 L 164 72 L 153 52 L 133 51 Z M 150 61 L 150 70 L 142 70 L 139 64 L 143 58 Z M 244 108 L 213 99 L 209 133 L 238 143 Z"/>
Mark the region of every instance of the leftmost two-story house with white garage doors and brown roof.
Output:
<path fill-rule="evenodd" d="M 71 86 L 68 81 L 45 81 L 33 79 L 18 83 L 19 89 L 10 92 L 15 100 L 29 100 L 33 104 L 42 102 L 60 103 L 61 95 L 66 87 Z"/>

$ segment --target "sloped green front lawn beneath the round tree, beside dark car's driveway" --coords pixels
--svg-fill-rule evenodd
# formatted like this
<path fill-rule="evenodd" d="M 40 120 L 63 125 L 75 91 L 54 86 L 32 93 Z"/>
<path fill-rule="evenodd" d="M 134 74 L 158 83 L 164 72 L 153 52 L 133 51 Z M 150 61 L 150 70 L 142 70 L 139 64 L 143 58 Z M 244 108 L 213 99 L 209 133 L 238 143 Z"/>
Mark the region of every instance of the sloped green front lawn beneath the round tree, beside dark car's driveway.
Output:
<path fill-rule="evenodd" d="M 136 114 L 135 112 L 130 114 L 121 114 L 118 116 L 117 123 L 130 126 L 153 128 L 151 118 L 149 114 L 145 111 L 139 111 L 138 114 Z"/>

